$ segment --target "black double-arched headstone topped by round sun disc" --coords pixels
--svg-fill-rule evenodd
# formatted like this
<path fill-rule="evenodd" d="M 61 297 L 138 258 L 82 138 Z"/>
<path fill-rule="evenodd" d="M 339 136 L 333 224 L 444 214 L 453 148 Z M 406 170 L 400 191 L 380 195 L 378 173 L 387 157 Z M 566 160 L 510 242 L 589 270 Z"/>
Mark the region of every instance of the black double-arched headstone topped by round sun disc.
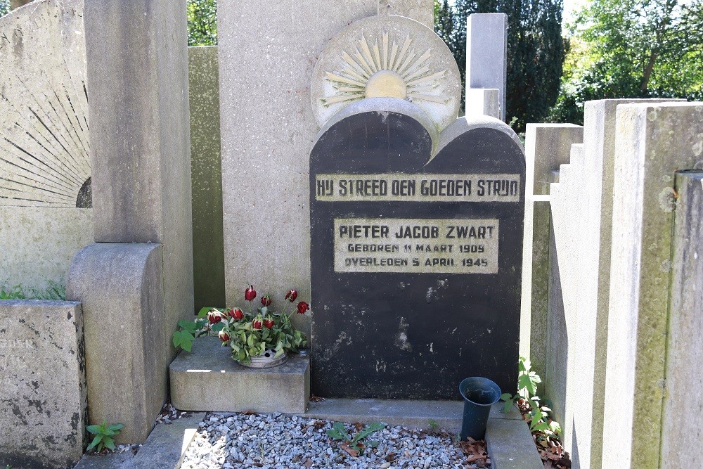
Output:
<path fill-rule="evenodd" d="M 352 23 L 311 101 L 312 392 L 457 399 L 472 375 L 515 391 L 524 150 L 494 117 L 457 119 L 460 79 L 432 30 Z M 334 377 L 334 378 L 330 378 Z"/>

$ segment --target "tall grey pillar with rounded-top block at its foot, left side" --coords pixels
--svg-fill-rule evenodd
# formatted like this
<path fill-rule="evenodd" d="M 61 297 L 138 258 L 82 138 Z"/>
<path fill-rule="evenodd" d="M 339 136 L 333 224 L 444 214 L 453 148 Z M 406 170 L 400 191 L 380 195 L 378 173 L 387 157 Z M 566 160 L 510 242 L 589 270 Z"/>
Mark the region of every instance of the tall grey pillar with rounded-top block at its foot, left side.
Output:
<path fill-rule="evenodd" d="M 136 443 L 193 317 L 186 5 L 87 0 L 84 23 L 98 244 L 74 258 L 67 297 L 83 302 L 90 421 Z"/>

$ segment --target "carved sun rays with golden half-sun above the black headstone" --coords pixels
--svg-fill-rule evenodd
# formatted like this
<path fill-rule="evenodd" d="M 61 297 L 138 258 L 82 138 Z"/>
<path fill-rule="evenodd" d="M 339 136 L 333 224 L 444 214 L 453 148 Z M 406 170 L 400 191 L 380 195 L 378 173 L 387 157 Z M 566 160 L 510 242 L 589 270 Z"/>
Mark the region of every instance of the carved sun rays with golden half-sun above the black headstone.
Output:
<path fill-rule="evenodd" d="M 430 49 L 418 54 L 410 36 L 401 42 L 394 39 L 390 44 L 389 34 L 383 32 L 380 41 L 377 37 L 373 46 L 369 46 L 362 35 L 354 51 L 342 52 L 341 70 L 325 71 L 325 79 L 332 84 L 335 94 L 321 101 L 329 106 L 389 97 L 446 104 L 449 98 L 437 91 L 446 70 L 432 70 L 431 57 Z"/>

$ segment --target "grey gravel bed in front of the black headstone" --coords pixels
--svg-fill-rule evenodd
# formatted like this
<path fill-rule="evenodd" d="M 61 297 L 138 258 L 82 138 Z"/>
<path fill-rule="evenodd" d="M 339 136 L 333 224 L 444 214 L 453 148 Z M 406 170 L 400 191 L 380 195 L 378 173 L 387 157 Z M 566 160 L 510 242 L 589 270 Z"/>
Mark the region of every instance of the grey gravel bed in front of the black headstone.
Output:
<path fill-rule="evenodd" d="M 379 445 L 349 456 L 326 431 L 330 420 L 280 413 L 209 413 L 184 456 L 183 469 L 476 468 L 450 435 L 386 427 L 367 441 Z M 345 424 L 356 434 L 354 425 Z M 481 466 L 484 467 L 484 466 Z"/>

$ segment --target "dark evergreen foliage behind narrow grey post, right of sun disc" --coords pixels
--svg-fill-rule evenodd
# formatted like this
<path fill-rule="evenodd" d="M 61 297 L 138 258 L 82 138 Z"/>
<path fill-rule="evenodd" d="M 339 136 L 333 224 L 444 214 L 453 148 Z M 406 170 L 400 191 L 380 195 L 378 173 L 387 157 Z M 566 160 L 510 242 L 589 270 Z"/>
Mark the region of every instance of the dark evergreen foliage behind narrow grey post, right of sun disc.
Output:
<path fill-rule="evenodd" d="M 505 115 L 518 131 L 527 122 L 541 122 L 556 101 L 564 61 L 562 9 L 562 0 L 456 0 L 453 8 L 435 1 L 434 29 L 453 52 L 463 82 L 468 16 L 508 15 Z"/>

